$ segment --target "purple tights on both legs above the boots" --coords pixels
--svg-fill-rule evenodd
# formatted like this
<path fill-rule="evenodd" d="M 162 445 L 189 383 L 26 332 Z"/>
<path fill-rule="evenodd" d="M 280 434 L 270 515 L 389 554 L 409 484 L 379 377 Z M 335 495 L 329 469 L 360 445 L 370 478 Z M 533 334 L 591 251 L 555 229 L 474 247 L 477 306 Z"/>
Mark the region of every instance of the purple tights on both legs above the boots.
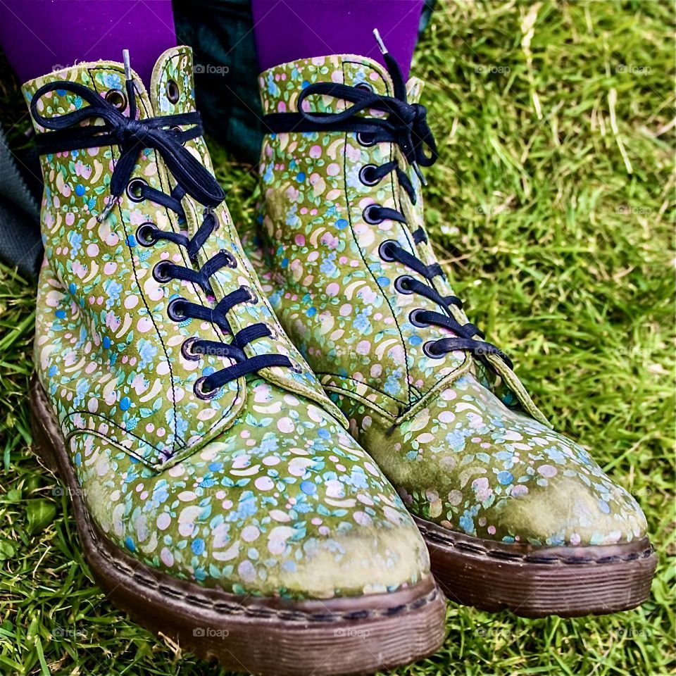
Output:
<path fill-rule="evenodd" d="M 176 44 L 170 0 L 3 0 L 0 45 L 22 82 L 81 61 L 121 61 L 149 84 Z M 296 58 L 358 54 L 381 61 L 377 28 L 408 75 L 423 0 L 252 0 L 261 70 Z"/>

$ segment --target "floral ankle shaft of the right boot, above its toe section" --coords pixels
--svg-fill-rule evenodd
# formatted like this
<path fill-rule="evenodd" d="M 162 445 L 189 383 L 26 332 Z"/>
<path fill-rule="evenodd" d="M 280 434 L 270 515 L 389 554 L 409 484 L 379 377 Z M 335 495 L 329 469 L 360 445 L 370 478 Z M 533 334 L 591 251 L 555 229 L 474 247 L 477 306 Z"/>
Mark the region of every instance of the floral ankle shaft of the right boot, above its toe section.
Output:
<path fill-rule="evenodd" d="M 273 296 L 275 310 L 325 388 L 394 418 L 423 408 L 442 382 L 472 372 L 498 389 L 507 382 L 504 398 L 519 399 L 542 419 L 497 353 L 475 349 L 477 361 L 465 349 L 430 349 L 462 337 L 466 327 L 479 332 L 425 234 L 415 161 L 431 163 L 435 149 L 418 104 L 423 83 L 413 78 L 404 85 L 396 66 L 391 70 L 337 55 L 287 63 L 260 77 L 263 111 L 277 129 L 264 139 L 260 169 L 266 254 L 285 284 L 285 293 Z M 385 100 L 369 108 L 370 94 Z M 299 101 L 306 120 L 288 115 L 297 118 Z M 364 131 L 358 122 L 370 120 L 384 126 Z M 420 150 L 425 144 L 432 158 Z M 403 253 L 393 257 L 393 244 Z M 413 257 L 427 284 L 423 294 L 415 282 L 411 287 Z M 444 325 L 428 323 L 443 313 Z M 467 335 L 465 344 L 475 346 Z"/>

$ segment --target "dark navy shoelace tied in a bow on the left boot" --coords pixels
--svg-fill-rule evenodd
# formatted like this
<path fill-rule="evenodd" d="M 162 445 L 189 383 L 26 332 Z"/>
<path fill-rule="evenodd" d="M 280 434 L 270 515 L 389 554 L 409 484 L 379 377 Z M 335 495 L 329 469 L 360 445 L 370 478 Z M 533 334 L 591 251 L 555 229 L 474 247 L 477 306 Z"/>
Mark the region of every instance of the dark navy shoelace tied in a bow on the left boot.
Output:
<path fill-rule="evenodd" d="M 80 96 L 89 106 L 53 118 L 40 115 L 37 111 L 37 102 L 44 94 L 56 90 L 72 92 Z M 77 82 L 49 82 L 40 87 L 32 98 L 30 111 L 39 125 L 52 131 L 39 134 L 37 137 L 39 153 L 44 155 L 106 145 L 118 146 L 120 157 L 115 162 L 111 177 L 111 200 L 99 215 L 99 221 L 106 218 L 125 191 L 132 201 L 148 199 L 169 208 L 177 213 L 180 222 L 185 220 L 181 200 L 186 194 L 204 205 L 204 220 L 192 238 L 178 232 L 160 230 L 154 223 L 139 225 L 136 238 L 142 246 L 154 246 L 161 239 L 182 246 L 193 267 L 187 268 L 168 261 L 160 261 L 153 269 L 153 276 L 161 283 L 170 280 L 187 280 L 197 284 L 213 299 L 215 294 L 211 287 L 212 275 L 226 266 L 237 267 L 237 259 L 232 253 L 221 250 L 209 258 L 201 268 L 196 269 L 197 254 L 218 227 L 218 219 L 212 209 L 225 199 L 225 193 L 215 177 L 183 145 L 189 139 L 201 136 L 199 113 L 163 115 L 137 120 L 133 80 L 127 77 L 126 96 L 118 90 L 111 91 L 116 95 L 104 99 L 92 89 Z M 128 117 L 120 111 L 120 108 L 122 110 L 126 108 L 127 101 L 129 103 Z M 97 118 L 104 120 L 104 125 L 80 126 L 84 120 L 90 120 L 93 123 Z M 182 130 L 180 125 L 191 126 L 187 130 Z M 141 178 L 131 178 L 139 155 L 144 149 L 149 148 L 161 155 L 176 181 L 176 186 L 170 194 L 150 187 Z M 167 313 L 174 322 L 180 323 L 191 318 L 205 320 L 233 336 L 230 344 L 203 340 L 199 337 L 190 337 L 182 344 L 182 355 L 192 361 L 199 361 L 206 355 L 226 357 L 234 361 L 233 365 L 199 377 L 194 383 L 196 396 L 201 399 L 212 399 L 218 394 L 218 389 L 227 382 L 254 373 L 261 368 L 284 366 L 299 370 L 299 367 L 288 357 L 281 354 L 246 356 L 244 348 L 247 344 L 262 337 L 274 338 L 276 337 L 275 330 L 265 323 L 258 323 L 233 334 L 225 315 L 239 303 L 256 303 L 257 301 L 256 294 L 249 287 L 239 287 L 236 291 L 227 294 L 213 308 L 192 303 L 180 296 L 168 303 Z"/>

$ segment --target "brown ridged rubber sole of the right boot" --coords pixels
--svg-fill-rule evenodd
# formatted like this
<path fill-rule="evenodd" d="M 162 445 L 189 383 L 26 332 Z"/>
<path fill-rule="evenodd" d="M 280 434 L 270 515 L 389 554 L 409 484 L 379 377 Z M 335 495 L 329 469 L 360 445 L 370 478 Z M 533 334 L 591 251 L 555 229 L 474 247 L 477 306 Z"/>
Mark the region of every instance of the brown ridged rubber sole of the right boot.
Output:
<path fill-rule="evenodd" d="M 629 544 L 534 547 L 451 532 L 415 518 L 432 573 L 450 601 L 526 618 L 606 615 L 650 595 L 657 557 L 647 538 Z"/>

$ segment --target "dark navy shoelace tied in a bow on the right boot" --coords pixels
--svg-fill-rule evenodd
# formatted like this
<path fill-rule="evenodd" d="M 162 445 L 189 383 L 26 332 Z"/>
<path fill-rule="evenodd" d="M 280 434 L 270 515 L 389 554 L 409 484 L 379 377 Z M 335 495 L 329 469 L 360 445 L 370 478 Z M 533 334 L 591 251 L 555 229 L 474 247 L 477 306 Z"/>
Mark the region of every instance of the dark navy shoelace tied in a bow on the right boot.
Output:
<path fill-rule="evenodd" d="M 379 142 L 396 143 L 406 161 L 413 166 L 420 182 L 426 184 L 419 165 L 430 166 L 437 161 L 438 157 L 432 131 L 427 125 L 427 109 L 421 104 L 408 103 L 406 84 L 403 81 L 399 64 L 384 49 L 379 36 L 376 37 L 383 51 L 387 72 L 392 77 L 394 96 L 376 94 L 368 84 L 357 84 L 351 87 L 335 82 L 315 82 L 315 84 L 309 84 L 299 95 L 298 113 L 271 113 L 265 115 L 264 123 L 271 133 L 354 132 L 357 141 L 363 146 L 372 146 Z M 303 101 L 310 96 L 333 96 L 335 99 L 349 101 L 353 106 L 339 113 L 308 113 L 303 111 Z M 369 118 L 358 114 L 368 109 L 387 113 L 387 117 Z M 429 155 L 425 154 L 425 148 L 429 150 Z M 392 171 L 396 172 L 399 184 L 406 191 L 411 202 L 415 204 L 413 184 L 396 160 L 380 166 L 364 165 L 359 178 L 365 185 L 375 185 Z M 363 218 L 371 225 L 377 225 L 386 219 L 406 224 L 406 217 L 401 211 L 380 204 L 368 205 L 363 211 Z M 415 244 L 427 242 L 422 227 L 413 232 L 412 237 Z M 463 303 L 457 296 L 442 296 L 434 288 L 432 282 L 434 277 L 444 275 L 439 263 L 432 265 L 423 263 L 420 258 L 406 251 L 394 239 L 383 242 L 380 245 L 379 254 L 383 261 L 398 261 L 426 280 L 423 282 L 411 275 L 401 275 L 394 282 L 397 292 L 420 294 L 442 308 L 442 312 L 415 308 L 408 315 L 411 324 L 417 327 L 431 325 L 446 327 L 456 334 L 455 337 L 427 341 L 423 345 L 423 351 L 428 357 L 442 359 L 454 350 L 467 350 L 475 354 L 488 368 L 493 368 L 486 358 L 489 354 L 499 356 L 509 368 L 513 368 L 510 358 L 494 344 L 487 342 L 484 334 L 475 325 L 461 324 L 453 317 L 451 306 L 462 309 Z"/>

